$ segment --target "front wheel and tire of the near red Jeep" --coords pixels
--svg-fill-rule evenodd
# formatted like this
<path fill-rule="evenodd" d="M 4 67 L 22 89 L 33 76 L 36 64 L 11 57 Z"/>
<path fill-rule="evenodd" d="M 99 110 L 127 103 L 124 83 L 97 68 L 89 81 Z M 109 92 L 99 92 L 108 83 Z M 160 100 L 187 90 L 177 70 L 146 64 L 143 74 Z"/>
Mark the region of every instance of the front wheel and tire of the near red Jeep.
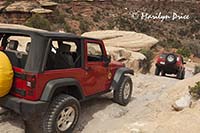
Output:
<path fill-rule="evenodd" d="M 127 94 L 125 92 L 126 91 L 125 87 L 128 88 L 128 86 L 129 86 L 130 91 L 128 91 L 128 94 Z M 133 85 L 132 85 L 131 78 L 128 76 L 124 76 L 120 87 L 114 90 L 114 101 L 120 105 L 126 106 L 131 100 L 131 95 L 132 95 L 132 90 L 133 90 L 132 87 Z"/>

